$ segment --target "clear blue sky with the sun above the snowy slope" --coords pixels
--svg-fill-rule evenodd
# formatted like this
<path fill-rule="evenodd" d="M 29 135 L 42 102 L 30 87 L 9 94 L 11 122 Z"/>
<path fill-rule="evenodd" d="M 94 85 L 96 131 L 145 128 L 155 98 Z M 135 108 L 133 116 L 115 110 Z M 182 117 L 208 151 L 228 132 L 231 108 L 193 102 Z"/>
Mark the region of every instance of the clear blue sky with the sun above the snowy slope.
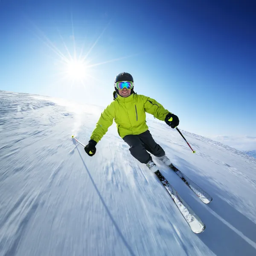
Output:
<path fill-rule="evenodd" d="M 226 0 L 1 0 L 0 89 L 107 106 L 125 71 L 181 129 L 256 136 L 255 9 Z"/>

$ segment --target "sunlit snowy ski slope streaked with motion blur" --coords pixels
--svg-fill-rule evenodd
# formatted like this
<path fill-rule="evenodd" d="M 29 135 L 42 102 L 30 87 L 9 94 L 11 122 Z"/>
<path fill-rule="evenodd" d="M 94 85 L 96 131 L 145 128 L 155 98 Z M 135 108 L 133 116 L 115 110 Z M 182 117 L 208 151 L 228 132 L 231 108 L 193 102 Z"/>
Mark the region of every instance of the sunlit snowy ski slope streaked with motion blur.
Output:
<path fill-rule="evenodd" d="M 111 102 L 111 96 L 110 96 Z M 255 256 L 256 159 L 152 117 L 157 143 L 208 192 L 160 171 L 206 224 L 194 234 L 115 125 L 87 156 L 102 108 L 0 91 L 0 256 Z M 182 129 L 182 120 L 180 120 Z"/>

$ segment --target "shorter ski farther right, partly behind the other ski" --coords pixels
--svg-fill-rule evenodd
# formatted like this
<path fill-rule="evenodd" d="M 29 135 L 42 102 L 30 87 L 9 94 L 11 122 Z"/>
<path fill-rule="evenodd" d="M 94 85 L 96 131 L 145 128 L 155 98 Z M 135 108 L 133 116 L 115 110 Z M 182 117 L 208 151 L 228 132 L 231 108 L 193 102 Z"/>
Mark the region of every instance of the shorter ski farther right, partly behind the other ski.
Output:
<path fill-rule="evenodd" d="M 190 180 L 186 175 L 184 175 L 182 172 L 180 172 L 179 169 L 177 169 L 172 163 L 169 165 L 169 167 L 175 171 L 175 173 L 186 183 L 187 186 L 195 193 L 195 195 L 200 198 L 200 200 L 204 204 L 209 204 L 212 201 L 212 197 L 207 194 L 203 189 L 201 189 L 197 184 L 195 184 L 192 180 Z"/>

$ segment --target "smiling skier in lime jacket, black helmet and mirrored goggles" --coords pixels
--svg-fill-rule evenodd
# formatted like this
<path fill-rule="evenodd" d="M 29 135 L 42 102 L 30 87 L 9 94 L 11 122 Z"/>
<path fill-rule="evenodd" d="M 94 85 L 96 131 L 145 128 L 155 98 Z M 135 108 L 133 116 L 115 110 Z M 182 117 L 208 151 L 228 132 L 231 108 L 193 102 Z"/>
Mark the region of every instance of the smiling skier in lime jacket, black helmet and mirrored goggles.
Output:
<path fill-rule="evenodd" d="M 150 152 L 163 163 L 171 164 L 163 148 L 151 136 L 146 125 L 145 112 L 165 121 L 171 128 L 179 125 L 179 118 L 154 99 L 135 93 L 134 79 L 129 73 L 118 74 L 114 87 L 114 101 L 102 112 L 88 144 L 84 147 L 85 152 L 89 156 L 96 153 L 96 144 L 108 131 L 114 119 L 119 136 L 130 146 L 131 155 L 140 163 L 145 163 L 152 172 L 157 171 L 157 166 L 148 153 Z"/>

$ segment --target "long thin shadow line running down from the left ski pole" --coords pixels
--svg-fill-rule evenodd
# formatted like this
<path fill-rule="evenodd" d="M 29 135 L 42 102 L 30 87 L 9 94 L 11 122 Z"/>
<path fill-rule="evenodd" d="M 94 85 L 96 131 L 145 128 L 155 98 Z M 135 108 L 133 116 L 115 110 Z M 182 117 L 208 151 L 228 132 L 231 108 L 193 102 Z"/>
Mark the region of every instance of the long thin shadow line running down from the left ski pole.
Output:
<path fill-rule="evenodd" d="M 123 243 L 125 244 L 125 246 L 126 246 L 126 248 L 128 249 L 128 251 L 131 253 L 131 255 L 132 255 L 132 256 L 135 256 L 135 253 L 134 253 L 133 250 L 131 249 L 131 247 L 130 247 L 130 245 L 128 244 L 128 242 L 125 240 L 125 237 L 122 235 L 121 230 L 119 229 L 118 225 L 116 224 L 116 221 L 114 220 L 114 218 L 113 218 L 111 212 L 109 211 L 108 206 L 106 205 L 104 199 L 102 198 L 102 195 L 100 194 L 99 189 L 97 188 L 97 186 L 96 186 L 96 184 L 95 184 L 95 182 L 94 182 L 94 180 L 93 180 L 93 177 L 90 175 L 90 172 L 89 172 L 89 170 L 88 170 L 86 164 L 84 163 L 83 157 L 82 157 L 81 154 L 80 154 L 79 148 L 77 147 L 77 144 L 76 144 L 75 140 L 73 140 L 73 143 L 76 145 L 77 151 L 78 151 L 78 153 L 79 153 L 79 155 L 80 155 L 80 157 L 81 157 L 81 160 L 82 160 L 82 162 L 83 162 L 83 164 L 84 164 L 84 167 L 85 167 L 85 169 L 86 169 L 86 171 L 87 171 L 87 174 L 89 175 L 90 180 L 91 180 L 91 182 L 93 183 L 93 186 L 94 186 L 94 188 L 95 188 L 97 194 L 99 195 L 99 199 L 102 201 L 102 204 L 103 204 L 103 206 L 105 207 L 105 209 L 106 209 L 106 211 L 107 211 L 107 213 L 108 213 L 109 218 L 110 218 L 111 221 L 113 222 L 113 225 L 115 226 L 115 228 L 116 228 L 116 230 L 117 230 L 117 233 L 119 234 L 120 238 L 122 239 Z"/>

